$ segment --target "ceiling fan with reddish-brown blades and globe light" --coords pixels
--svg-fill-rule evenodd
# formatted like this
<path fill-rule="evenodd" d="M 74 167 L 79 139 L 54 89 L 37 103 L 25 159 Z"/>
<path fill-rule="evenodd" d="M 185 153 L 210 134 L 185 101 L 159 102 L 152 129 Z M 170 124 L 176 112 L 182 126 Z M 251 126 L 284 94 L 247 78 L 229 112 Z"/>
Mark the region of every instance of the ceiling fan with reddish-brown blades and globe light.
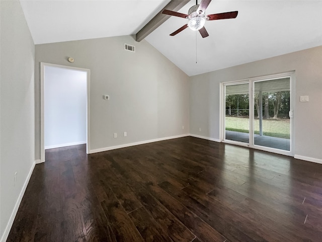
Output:
<path fill-rule="evenodd" d="M 163 14 L 189 19 L 188 24 L 185 24 L 180 29 L 176 30 L 170 35 L 175 36 L 176 34 L 189 27 L 194 31 L 199 30 L 201 36 L 205 38 L 209 36 L 207 30 L 204 27 L 206 21 L 219 19 L 234 19 L 237 17 L 238 11 L 206 15 L 206 9 L 210 2 L 211 0 L 202 0 L 200 5 L 198 5 L 198 0 L 196 0 L 196 5 L 192 6 L 189 9 L 188 14 L 182 14 L 171 10 L 164 10 L 162 12 Z"/>

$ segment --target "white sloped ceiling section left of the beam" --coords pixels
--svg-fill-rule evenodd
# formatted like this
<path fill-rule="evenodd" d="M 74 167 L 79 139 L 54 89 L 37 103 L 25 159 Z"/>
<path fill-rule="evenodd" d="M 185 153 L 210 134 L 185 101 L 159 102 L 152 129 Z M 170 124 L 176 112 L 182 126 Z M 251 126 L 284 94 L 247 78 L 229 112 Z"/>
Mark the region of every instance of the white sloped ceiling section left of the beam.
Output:
<path fill-rule="evenodd" d="M 136 34 L 170 0 L 20 0 L 35 44 Z"/>

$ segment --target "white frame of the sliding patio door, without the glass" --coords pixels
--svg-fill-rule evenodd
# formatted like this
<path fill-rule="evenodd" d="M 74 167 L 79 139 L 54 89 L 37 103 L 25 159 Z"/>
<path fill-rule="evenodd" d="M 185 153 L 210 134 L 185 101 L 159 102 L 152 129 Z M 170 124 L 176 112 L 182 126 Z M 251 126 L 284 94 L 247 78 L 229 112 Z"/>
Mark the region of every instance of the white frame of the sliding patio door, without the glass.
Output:
<path fill-rule="evenodd" d="M 259 146 L 254 144 L 254 85 L 255 82 L 260 81 L 269 81 L 272 79 L 281 79 L 281 78 L 290 78 L 290 150 L 280 150 L 265 146 Z M 226 116 L 226 110 L 225 110 L 225 87 L 230 85 L 238 85 L 238 84 L 249 84 L 249 144 L 243 143 L 243 142 L 237 142 L 237 141 L 231 141 L 225 139 L 225 116 Z M 274 75 L 267 75 L 267 76 L 261 76 L 261 77 L 254 77 L 249 79 L 243 79 L 238 81 L 230 81 L 230 82 L 222 82 L 220 83 L 220 140 L 225 143 L 229 144 L 235 144 L 239 146 L 246 146 L 254 149 L 269 151 L 277 154 L 283 154 L 288 156 L 294 156 L 294 132 L 293 132 L 293 110 L 294 110 L 294 93 L 295 93 L 295 71 L 292 72 L 286 72 L 286 73 L 280 73 L 280 74 L 274 74 Z"/>

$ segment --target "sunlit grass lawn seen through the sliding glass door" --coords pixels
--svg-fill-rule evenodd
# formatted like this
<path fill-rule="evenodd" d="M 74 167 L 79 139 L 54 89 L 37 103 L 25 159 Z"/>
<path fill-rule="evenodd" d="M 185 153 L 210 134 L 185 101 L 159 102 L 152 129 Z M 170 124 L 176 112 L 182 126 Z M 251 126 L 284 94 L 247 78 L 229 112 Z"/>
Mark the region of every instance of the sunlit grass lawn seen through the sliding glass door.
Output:
<path fill-rule="evenodd" d="M 249 117 L 226 116 L 226 130 L 242 133 L 249 133 Z M 260 120 L 255 119 L 254 123 L 255 134 L 259 135 Z M 263 119 L 263 135 L 290 138 L 290 119 Z"/>

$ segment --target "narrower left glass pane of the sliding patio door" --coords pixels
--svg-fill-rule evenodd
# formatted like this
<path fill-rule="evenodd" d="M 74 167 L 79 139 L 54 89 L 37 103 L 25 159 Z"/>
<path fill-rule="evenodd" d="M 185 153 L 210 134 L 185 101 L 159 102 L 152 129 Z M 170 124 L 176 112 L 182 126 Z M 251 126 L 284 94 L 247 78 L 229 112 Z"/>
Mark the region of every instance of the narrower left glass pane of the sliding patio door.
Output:
<path fill-rule="evenodd" d="M 249 144 L 249 84 L 225 86 L 225 140 Z"/>

